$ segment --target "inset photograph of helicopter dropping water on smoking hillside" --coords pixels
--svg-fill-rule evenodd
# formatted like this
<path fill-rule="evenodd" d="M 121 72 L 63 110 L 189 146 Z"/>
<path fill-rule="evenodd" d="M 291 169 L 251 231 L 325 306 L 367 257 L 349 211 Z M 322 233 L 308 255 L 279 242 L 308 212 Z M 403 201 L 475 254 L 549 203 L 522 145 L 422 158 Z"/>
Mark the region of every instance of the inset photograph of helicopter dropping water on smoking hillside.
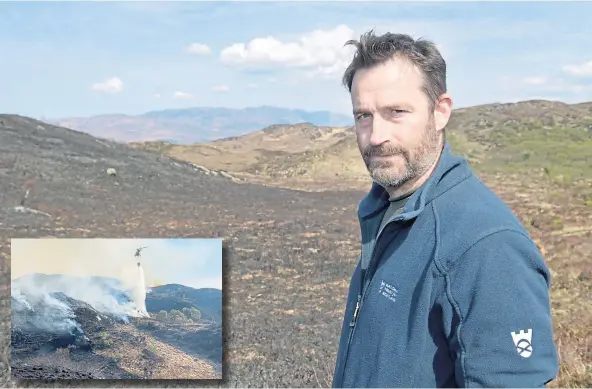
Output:
<path fill-rule="evenodd" d="M 18 380 L 222 379 L 222 239 L 12 239 Z"/>

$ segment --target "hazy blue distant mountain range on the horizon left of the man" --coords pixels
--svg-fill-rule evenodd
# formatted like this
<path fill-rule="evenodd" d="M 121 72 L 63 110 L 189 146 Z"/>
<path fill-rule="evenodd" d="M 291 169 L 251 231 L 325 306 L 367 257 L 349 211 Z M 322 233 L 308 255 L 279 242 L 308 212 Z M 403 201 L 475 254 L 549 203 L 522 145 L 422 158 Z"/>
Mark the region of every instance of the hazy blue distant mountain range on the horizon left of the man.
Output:
<path fill-rule="evenodd" d="M 118 142 L 165 141 L 177 144 L 241 136 L 274 124 L 311 123 L 342 127 L 353 123 L 349 115 L 271 106 L 243 109 L 196 107 L 151 111 L 141 115 L 112 114 L 45 121 Z"/>

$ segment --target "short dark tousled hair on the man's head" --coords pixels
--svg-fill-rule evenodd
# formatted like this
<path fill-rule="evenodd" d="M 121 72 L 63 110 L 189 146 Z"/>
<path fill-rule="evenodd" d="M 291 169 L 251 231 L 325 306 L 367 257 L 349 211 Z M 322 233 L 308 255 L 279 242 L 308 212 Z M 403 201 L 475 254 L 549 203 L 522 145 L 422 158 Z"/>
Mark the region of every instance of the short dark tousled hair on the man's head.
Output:
<path fill-rule="evenodd" d="M 423 74 L 423 91 L 433 109 L 438 98 L 446 93 L 446 61 L 436 45 L 422 38 L 417 40 L 406 34 L 376 35 L 370 30 L 359 41 L 349 40 L 345 46 L 355 46 L 356 52 L 343 75 L 343 85 L 351 92 L 356 72 L 363 68 L 387 62 L 395 57 L 408 60 Z"/>

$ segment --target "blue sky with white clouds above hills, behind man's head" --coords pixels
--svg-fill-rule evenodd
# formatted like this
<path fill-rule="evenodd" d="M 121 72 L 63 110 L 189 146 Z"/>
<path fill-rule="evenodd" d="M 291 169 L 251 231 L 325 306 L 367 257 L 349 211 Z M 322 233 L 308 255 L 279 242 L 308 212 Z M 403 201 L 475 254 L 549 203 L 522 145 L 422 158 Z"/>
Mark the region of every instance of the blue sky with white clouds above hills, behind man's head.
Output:
<path fill-rule="evenodd" d="M 0 2 L 0 111 L 274 105 L 351 114 L 344 47 L 428 38 L 456 108 L 592 100 L 592 2 Z"/>

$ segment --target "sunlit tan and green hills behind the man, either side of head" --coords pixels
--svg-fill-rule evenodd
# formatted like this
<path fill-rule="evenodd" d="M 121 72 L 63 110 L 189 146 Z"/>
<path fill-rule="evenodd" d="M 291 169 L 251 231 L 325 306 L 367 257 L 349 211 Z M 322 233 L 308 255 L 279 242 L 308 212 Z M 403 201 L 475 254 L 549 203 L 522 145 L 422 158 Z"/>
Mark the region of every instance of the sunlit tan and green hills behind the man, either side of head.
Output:
<path fill-rule="evenodd" d="M 368 174 L 351 128 L 301 128 L 323 135 L 311 139 L 294 126 L 275 126 L 272 131 L 190 146 L 134 146 L 231 172 L 250 173 L 250 177 L 242 177 L 251 180 L 262 180 L 262 176 L 281 184 L 302 180 L 302 184 L 292 186 L 304 187 L 322 181 L 333 185 L 346 179 L 354 187 L 366 185 Z M 544 168 L 559 181 L 592 178 L 592 103 L 534 100 L 458 109 L 447 127 L 447 139 L 453 150 L 467 157 L 479 172 L 539 175 Z"/>

